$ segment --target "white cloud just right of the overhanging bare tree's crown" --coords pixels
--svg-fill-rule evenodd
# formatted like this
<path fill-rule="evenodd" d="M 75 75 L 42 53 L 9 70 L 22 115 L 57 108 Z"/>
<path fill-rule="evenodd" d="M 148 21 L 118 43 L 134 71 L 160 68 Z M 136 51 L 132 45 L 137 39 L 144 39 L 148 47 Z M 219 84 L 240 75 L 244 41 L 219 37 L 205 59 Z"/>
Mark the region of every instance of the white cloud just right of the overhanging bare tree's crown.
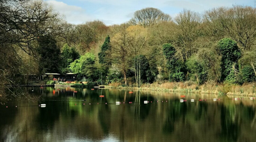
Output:
<path fill-rule="evenodd" d="M 79 6 L 71 6 L 59 1 L 46 1 L 49 3 L 53 10 L 60 13 L 65 17 L 65 20 L 71 24 L 81 24 L 86 21 L 93 20 L 86 11 Z"/>

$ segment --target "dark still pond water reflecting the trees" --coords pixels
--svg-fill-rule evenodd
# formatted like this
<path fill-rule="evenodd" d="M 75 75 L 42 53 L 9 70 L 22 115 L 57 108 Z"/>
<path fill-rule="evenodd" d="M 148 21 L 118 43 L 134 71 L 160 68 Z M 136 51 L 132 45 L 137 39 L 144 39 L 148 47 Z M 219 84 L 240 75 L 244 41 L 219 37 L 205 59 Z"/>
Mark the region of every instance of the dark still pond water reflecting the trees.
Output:
<path fill-rule="evenodd" d="M 77 88 L 24 90 L 29 95 L 23 99 L 1 100 L 0 141 L 256 141 L 256 102 L 250 97 L 234 100 L 218 95 Z"/>

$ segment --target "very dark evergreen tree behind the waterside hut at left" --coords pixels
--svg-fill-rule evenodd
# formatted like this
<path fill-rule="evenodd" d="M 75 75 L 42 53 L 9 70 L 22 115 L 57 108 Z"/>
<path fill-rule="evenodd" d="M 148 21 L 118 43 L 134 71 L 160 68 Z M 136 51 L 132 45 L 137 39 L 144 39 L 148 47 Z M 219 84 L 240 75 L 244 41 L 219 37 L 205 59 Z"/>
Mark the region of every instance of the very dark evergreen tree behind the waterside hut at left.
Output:
<path fill-rule="evenodd" d="M 56 40 L 52 36 L 40 36 L 38 43 L 39 70 L 42 73 L 59 72 L 60 49 L 56 45 Z"/>

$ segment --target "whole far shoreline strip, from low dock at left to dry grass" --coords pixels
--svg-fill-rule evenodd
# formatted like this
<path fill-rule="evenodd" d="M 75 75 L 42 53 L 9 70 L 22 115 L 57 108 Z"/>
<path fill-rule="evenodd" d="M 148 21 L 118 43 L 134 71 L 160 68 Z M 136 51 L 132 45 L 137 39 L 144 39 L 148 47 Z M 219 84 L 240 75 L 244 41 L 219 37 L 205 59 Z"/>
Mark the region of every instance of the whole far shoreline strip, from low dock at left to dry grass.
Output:
<path fill-rule="evenodd" d="M 88 84 L 17 84 L 8 85 L 7 87 L 74 87 L 74 88 L 88 88 Z M 91 85 L 91 88 L 94 88 Z M 100 88 L 100 87 L 99 87 Z M 235 96 L 256 96 L 256 84 L 211 84 L 205 83 L 200 86 L 193 82 L 183 82 L 183 83 L 152 83 L 152 84 L 142 84 L 140 88 L 134 86 L 122 86 L 122 84 L 108 84 L 104 85 L 106 89 L 122 89 L 122 90 L 141 90 L 141 91 L 164 91 L 173 93 L 197 93 L 197 94 L 212 94 L 212 95 L 235 95 Z"/>

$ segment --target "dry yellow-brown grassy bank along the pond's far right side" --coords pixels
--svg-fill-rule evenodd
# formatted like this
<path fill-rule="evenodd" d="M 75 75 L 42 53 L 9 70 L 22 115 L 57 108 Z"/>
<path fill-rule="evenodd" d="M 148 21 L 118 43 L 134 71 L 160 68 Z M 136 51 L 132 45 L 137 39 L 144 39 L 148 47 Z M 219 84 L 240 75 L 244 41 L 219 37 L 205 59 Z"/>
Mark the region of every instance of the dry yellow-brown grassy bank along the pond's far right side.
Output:
<path fill-rule="evenodd" d="M 120 88 L 128 90 L 152 90 L 152 91 L 172 91 L 182 93 L 202 93 L 202 94 L 214 94 L 214 95 L 241 95 L 241 96 L 256 96 L 256 84 L 214 84 L 205 83 L 198 85 L 191 81 L 183 83 L 152 83 L 143 84 L 140 88 L 130 86 L 122 86 L 120 83 L 111 83 L 106 88 Z"/>

